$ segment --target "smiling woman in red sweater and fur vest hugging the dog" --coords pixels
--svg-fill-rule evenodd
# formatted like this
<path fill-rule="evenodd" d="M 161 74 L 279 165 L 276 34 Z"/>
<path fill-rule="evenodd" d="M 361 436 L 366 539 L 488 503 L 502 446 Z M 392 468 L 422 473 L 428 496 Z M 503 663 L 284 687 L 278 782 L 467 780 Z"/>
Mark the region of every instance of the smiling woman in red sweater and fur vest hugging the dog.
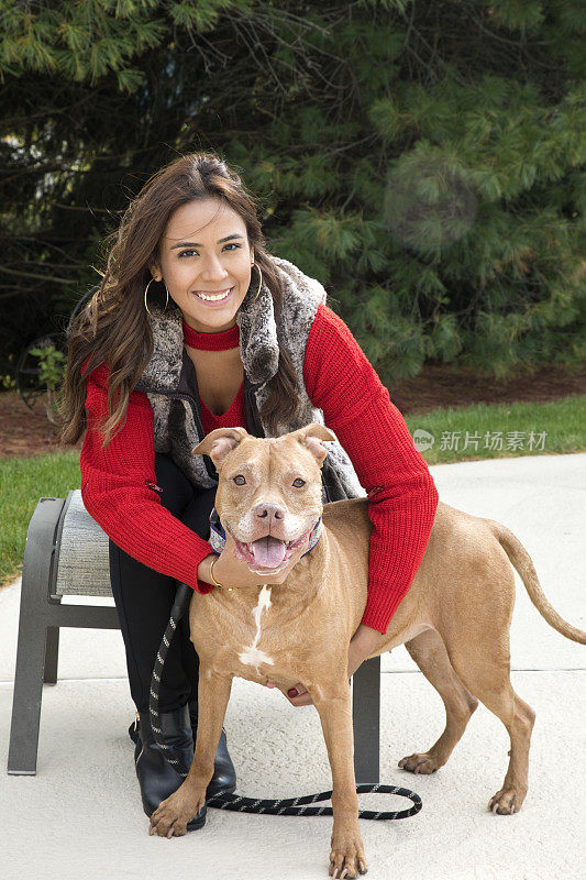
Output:
<path fill-rule="evenodd" d="M 302 553 L 278 575 L 261 575 L 228 551 L 212 552 L 218 474 L 191 449 L 219 427 L 278 437 L 319 421 L 336 435 L 322 468 L 323 501 L 366 490 L 374 526 L 368 600 L 349 676 L 413 580 L 438 492 L 388 392 L 325 305 L 323 287 L 265 250 L 253 199 L 214 154 L 183 156 L 143 187 L 68 345 L 62 441 L 75 442 L 87 424 L 81 492 L 110 538 L 136 705 L 129 733 L 150 816 L 181 781 L 154 743 L 148 716 L 151 673 L 178 582 L 197 593 L 283 583 Z M 159 690 L 163 736 L 185 763 L 194 754 L 197 673 L 186 616 Z M 302 684 L 287 698 L 311 702 Z M 234 788 L 222 732 L 208 794 Z M 203 809 L 188 828 L 204 820 Z"/>

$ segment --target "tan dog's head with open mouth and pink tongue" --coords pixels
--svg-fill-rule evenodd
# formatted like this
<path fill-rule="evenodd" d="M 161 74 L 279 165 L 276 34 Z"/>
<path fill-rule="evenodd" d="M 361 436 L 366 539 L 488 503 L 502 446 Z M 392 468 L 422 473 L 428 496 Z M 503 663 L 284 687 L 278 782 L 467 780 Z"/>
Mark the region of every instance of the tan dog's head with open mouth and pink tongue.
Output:
<path fill-rule="evenodd" d="M 217 428 L 195 447 L 219 475 L 215 509 L 252 571 L 281 569 L 322 513 L 324 440 L 335 436 L 308 425 L 279 438 L 252 437 L 244 428 Z"/>

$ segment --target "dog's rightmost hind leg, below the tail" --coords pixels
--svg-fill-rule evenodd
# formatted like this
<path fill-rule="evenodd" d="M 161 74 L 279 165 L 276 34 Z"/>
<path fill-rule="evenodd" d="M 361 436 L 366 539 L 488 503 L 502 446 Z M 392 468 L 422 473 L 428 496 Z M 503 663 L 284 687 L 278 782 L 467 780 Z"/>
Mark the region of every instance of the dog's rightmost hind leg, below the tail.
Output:
<path fill-rule="evenodd" d="M 471 692 L 500 718 L 511 744 L 502 788 L 490 799 L 488 807 L 493 813 L 518 813 L 527 794 L 529 744 L 535 713 L 512 690 L 508 632 L 500 641 L 486 644 L 485 638 L 484 645 L 479 631 L 469 631 L 467 636 L 466 645 L 447 646 L 452 664 Z"/>

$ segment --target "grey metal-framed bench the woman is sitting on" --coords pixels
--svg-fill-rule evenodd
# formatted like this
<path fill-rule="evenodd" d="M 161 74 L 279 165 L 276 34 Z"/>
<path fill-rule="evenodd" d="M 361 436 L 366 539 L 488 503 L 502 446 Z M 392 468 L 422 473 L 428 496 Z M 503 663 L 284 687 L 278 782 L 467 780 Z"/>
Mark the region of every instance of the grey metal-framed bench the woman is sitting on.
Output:
<path fill-rule="evenodd" d="M 115 608 L 63 604 L 67 595 L 112 595 L 108 536 L 79 490 L 40 498 L 26 532 L 9 773 L 36 773 L 43 683 L 57 683 L 59 628 L 120 628 Z M 352 681 L 356 782 L 378 782 L 380 658 L 364 662 Z"/>

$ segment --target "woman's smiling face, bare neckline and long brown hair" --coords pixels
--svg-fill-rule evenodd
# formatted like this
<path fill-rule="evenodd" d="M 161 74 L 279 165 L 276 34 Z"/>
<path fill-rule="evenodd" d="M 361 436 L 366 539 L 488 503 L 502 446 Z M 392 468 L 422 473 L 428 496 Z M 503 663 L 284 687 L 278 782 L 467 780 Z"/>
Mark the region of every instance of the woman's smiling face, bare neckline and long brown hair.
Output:
<path fill-rule="evenodd" d="M 277 314 L 281 307 L 283 282 L 265 249 L 255 201 L 239 175 L 211 153 L 181 156 L 154 174 L 131 202 L 110 243 L 100 289 L 69 336 L 59 406 L 63 443 L 77 442 L 84 432 L 87 376 L 108 364 L 111 397 L 100 424 L 103 446 L 108 446 L 152 355 L 155 324 L 150 316 L 161 314 L 161 304 L 166 304 L 167 314 L 179 310 L 188 330 L 204 334 L 234 328 L 239 307 L 257 296 L 262 284 Z M 226 288 L 233 289 L 215 300 Z M 298 406 L 298 382 L 278 329 L 277 343 L 277 371 L 262 407 L 273 429 L 290 419 Z M 233 352 L 230 356 L 233 386 L 239 364 Z M 210 384 L 223 369 L 214 360 L 219 360 L 217 351 L 207 359 L 200 356 L 196 366 L 209 374 Z M 242 377 L 241 371 L 240 383 Z M 215 409 L 217 391 L 211 388 L 209 397 Z"/>

